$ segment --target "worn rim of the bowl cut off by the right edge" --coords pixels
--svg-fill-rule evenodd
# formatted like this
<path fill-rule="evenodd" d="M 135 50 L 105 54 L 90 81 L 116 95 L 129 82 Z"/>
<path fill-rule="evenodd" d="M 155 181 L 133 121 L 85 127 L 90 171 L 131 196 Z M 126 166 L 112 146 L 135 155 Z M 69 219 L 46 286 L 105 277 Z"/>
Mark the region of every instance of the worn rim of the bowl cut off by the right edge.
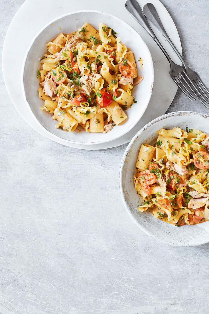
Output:
<path fill-rule="evenodd" d="M 162 116 L 159 116 L 157 117 L 156 119 L 152 120 L 151 122 L 148 122 L 144 127 L 142 127 L 138 132 L 137 134 L 131 139 L 131 142 L 128 144 L 128 146 L 126 147 L 126 150 L 123 154 L 123 157 L 121 159 L 121 165 L 120 165 L 120 170 L 119 170 L 119 188 L 120 188 L 120 193 L 121 193 L 121 198 L 122 198 L 122 202 L 123 202 L 123 205 L 124 207 L 126 208 L 126 211 L 127 213 L 129 214 L 129 216 L 131 217 L 131 219 L 133 219 L 133 221 L 136 223 L 136 225 L 142 230 L 144 231 L 148 236 L 152 236 L 154 239 L 158 240 L 159 242 L 161 243 L 164 243 L 164 244 L 169 244 L 169 245 L 172 245 L 172 246 L 185 246 L 185 247 L 189 247 L 189 246 L 200 246 L 200 245 L 203 245 L 203 244 L 206 244 L 206 243 L 209 243 L 209 240 L 207 241 L 199 241 L 197 242 L 196 244 L 191 244 L 191 245 L 185 245 L 185 244 L 174 244 L 174 243 L 171 243 L 171 242 L 168 242 L 166 240 L 161 240 L 159 239 L 155 234 L 153 234 L 151 231 L 147 230 L 145 227 L 143 227 L 139 221 L 134 217 L 133 215 L 133 212 L 130 208 L 130 206 L 128 205 L 128 203 L 126 202 L 126 198 L 124 197 L 124 188 L 122 186 L 122 172 L 123 172 L 123 167 L 124 167 L 124 164 L 125 164 L 125 160 L 126 160 L 126 157 L 127 157 L 127 154 L 129 153 L 130 149 L 131 149 L 131 146 L 133 145 L 133 143 L 136 141 L 136 139 L 138 138 L 138 136 L 140 136 L 140 134 L 143 133 L 144 130 L 146 130 L 147 128 L 149 128 L 151 125 L 153 125 L 155 122 L 158 122 L 158 121 L 163 121 L 165 118 L 167 117 L 170 117 L 170 116 L 180 116 L 180 115 L 196 115 L 196 116 L 202 116 L 204 118 L 207 118 L 209 119 L 209 116 L 205 115 L 205 114 L 201 114 L 201 113 L 198 113 L 198 112 L 194 112 L 194 111 L 174 111 L 174 112 L 170 112 L 170 113 L 167 113 L 167 114 L 164 114 Z"/>

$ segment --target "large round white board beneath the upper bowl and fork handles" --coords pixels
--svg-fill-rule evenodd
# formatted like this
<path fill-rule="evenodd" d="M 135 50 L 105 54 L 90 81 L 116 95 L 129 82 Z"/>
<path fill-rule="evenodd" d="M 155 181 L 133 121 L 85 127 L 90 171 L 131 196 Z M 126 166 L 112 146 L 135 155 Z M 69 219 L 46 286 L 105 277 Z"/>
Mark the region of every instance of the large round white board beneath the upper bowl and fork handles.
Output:
<path fill-rule="evenodd" d="M 174 84 L 169 76 L 169 63 L 164 57 L 161 50 L 154 43 L 152 38 L 127 12 L 125 8 L 125 2 L 125 0 L 107 0 L 97 2 L 95 2 L 94 0 L 89 0 L 87 3 L 84 0 L 76 2 L 63 0 L 62 3 L 59 3 L 58 5 L 56 0 L 26 0 L 14 16 L 8 28 L 3 46 L 3 76 L 8 93 L 16 109 L 19 111 L 25 121 L 27 121 L 27 123 L 40 134 L 58 143 L 80 149 L 104 149 L 115 147 L 129 142 L 141 127 L 143 127 L 147 122 L 151 121 L 155 117 L 162 115 L 170 106 L 176 94 L 177 86 Z M 160 18 L 163 21 L 163 25 L 168 32 L 169 37 L 174 42 L 180 53 L 182 53 L 179 35 L 169 13 L 159 0 L 152 0 L 150 2 L 155 5 Z M 147 1 L 139 0 L 139 3 L 141 7 L 143 7 L 143 5 L 147 3 Z M 40 7 L 42 8 L 41 15 Z M 66 143 L 63 140 L 57 139 L 51 134 L 44 132 L 40 125 L 36 122 L 34 117 L 31 115 L 28 107 L 24 103 L 24 98 L 21 93 L 20 77 L 22 63 L 25 52 L 35 34 L 46 23 L 56 18 L 56 16 L 65 14 L 66 11 L 70 12 L 79 9 L 99 9 L 105 12 L 114 13 L 116 16 L 118 16 L 119 18 L 130 24 L 135 30 L 137 30 L 137 32 L 141 35 L 142 39 L 147 44 L 153 58 L 155 81 L 153 94 L 147 110 L 145 111 L 144 115 L 137 123 L 137 125 L 130 132 L 126 133 L 121 138 L 105 144 L 88 146 L 76 145 Z M 161 42 L 165 43 L 163 45 L 169 52 L 170 56 L 173 58 L 174 62 L 178 62 L 177 57 L 175 56 L 170 46 L 164 41 L 163 36 L 157 31 L 156 35 Z M 15 46 L 15 58 L 13 58 L 13 46 Z M 10 73 L 13 73 L 14 77 L 17 78 L 15 81 L 11 81 Z"/>

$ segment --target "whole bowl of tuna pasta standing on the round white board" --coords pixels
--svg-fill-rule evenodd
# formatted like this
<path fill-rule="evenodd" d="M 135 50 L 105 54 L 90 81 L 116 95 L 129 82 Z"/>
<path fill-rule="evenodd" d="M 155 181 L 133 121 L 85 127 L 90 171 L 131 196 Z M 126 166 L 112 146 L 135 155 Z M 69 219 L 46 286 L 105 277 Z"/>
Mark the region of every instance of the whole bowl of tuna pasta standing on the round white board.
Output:
<path fill-rule="evenodd" d="M 101 23 L 105 20 L 107 25 Z M 76 12 L 52 22 L 36 35 L 23 65 L 25 100 L 38 123 L 77 144 L 124 135 L 138 122 L 152 93 L 153 64 L 146 45 L 111 14 Z M 123 31 L 116 34 L 118 28 Z M 134 36 L 137 43 L 132 45 Z M 31 60 L 38 71 L 32 83 Z"/>

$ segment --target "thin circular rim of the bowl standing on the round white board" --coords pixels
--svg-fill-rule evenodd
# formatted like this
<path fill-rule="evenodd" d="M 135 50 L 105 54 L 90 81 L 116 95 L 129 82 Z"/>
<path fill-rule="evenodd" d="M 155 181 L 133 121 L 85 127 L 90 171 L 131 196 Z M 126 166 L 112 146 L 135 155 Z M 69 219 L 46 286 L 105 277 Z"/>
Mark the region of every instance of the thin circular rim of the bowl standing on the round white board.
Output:
<path fill-rule="evenodd" d="M 34 38 L 32 39 L 32 41 L 30 42 L 29 46 L 28 46 L 28 49 L 26 50 L 26 53 L 25 53 L 25 56 L 24 56 L 24 60 L 23 60 L 23 65 L 22 65 L 22 70 L 21 70 L 21 87 L 22 87 L 22 93 L 23 93 L 23 98 L 24 98 L 24 101 L 26 103 L 26 106 L 29 108 L 29 111 L 31 113 L 31 115 L 34 117 L 34 119 L 36 120 L 36 122 L 39 124 L 39 126 L 46 132 L 46 133 L 49 133 L 51 134 L 53 137 L 55 138 L 61 138 L 53 133 L 51 133 L 50 131 L 48 131 L 45 127 L 43 127 L 43 125 L 38 121 L 38 119 L 36 118 L 35 114 L 33 113 L 32 109 L 30 108 L 30 105 L 26 99 L 26 95 L 25 95 L 25 89 L 24 89 L 24 68 L 25 68 L 25 63 L 26 63 L 26 59 L 28 57 L 28 53 L 34 43 L 34 41 L 36 40 L 36 38 L 43 32 L 43 30 L 45 30 L 48 26 L 50 26 L 50 24 L 56 22 L 57 20 L 59 19 L 62 19 L 63 17 L 66 17 L 66 16 L 70 16 L 70 15 L 73 15 L 73 14 L 77 14 L 77 13 L 88 13 L 88 12 L 94 12 L 94 13 L 102 13 L 102 14 L 108 14 L 109 16 L 113 17 L 114 19 L 117 19 L 117 20 L 120 20 L 122 21 L 123 23 L 125 23 L 126 26 L 128 27 L 131 27 L 132 31 L 135 32 L 135 34 L 137 36 L 139 36 L 141 38 L 141 40 L 143 41 L 144 45 L 147 47 L 147 44 L 145 43 L 145 41 L 142 39 L 142 37 L 137 33 L 137 31 L 131 26 L 129 25 L 128 23 L 126 23 L 125 21 L 123 21 L 122 19 L 118 18 L 117 16 L 113 15 L 113 14 L 110 14 L 110 13 L 107 13 L 107 12 L 103 12 L 103 11 L 99 11 L 99 10 L 78 10 L 78 11 L 73 11 L 73 12 L 69 12 L 69 13 L 66 13 L 66 14 L 62 14 L 58 17 L 56 17 L 55 19 L 51 20 L 49 23 L 47 23 L 45 26 L 43 26 L 41 28 L 41 30 L 34 36 Z M 78 145 L 97 145 L 97 144 L 103 144 L 103 143 L 108 143 L 108 142 L 111 142 L 117 138 L 120 138 L 121 136 L 125 135 L 126 133 L 128 133 L 138 122 L 139 120 L 142 118 L 145 110 L 147 109 L 147 106 L 149 104 L 149 101 L 150 101 L 150 98 L 152 96 L 152 92 L 153 92 L 153 84 L 154 84 L 154 66 L 153 66 L 153 59 L 152 59 L 152 56 L 151 56 L 151 53 L 149 51 L 149 48 L 147 47 L 147 50 L 148 50 L 148 55 L 149 55 L 149 58 L 150 58 L 150 61 L 151 61 L 151 70 L 152 70 L 152 78 L 151 78 L 151 86 L 150 86 L 150 94 L 149 94 L 149 97 L 148 97 L 148 100 L 147 100 L 147 105 L 145 106 L 145 109 L 142 111 L 141 113 L 141 116 L 140 118 L 133 124 L 131 124 L 131 126 L 126 129 L 126 131 L 124 131 L 123 133 L 111 138 L 111 139 L 108 139 L 108 140 L 101 140 L 101 141 L 97 141 L 97 142 L 89 142 L 89 143 L 85 143 L 85 142 L 77 142 L 77 141 L 72 141 L 72 140 L 68 140 L 68 139 L 65 139 L 65 138 L 61 138 L 64 142 L 67 142 L 67 143 L 72 143 L 72 144 L 78 144 Z"/>

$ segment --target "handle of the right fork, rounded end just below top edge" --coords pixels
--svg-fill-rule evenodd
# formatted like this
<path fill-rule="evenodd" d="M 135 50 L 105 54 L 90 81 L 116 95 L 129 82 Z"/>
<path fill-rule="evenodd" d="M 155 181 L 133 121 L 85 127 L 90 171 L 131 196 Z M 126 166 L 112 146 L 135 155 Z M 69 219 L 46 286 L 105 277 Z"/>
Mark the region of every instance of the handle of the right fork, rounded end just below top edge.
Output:
<path fill-rule="evenodd" d="M 186 69 L 187 64 L 185 63 L 184 59 L 180 55 L 179 51 L 174 46 L 171 39 L 169 38 L 169 35 L 166 33 L 166 31 L 163 27 L 163 24 L 159 18 L 158 12 L 156 11 L 156 8 L 153 6 L 153 4 L 152 3 L 145 4 L 143 6 L 142 12 L 146 16 L 146 18 L 157 28 L 157 30 L 159 30 L 161 32 L 161 34 L 163 34 L 163 36 L 167 39 L 167 41 L 169 42 L 169 44 L 171 45 L 171 47 L 173 48 L 173 50 L 175 51 L 175 53 L 177 54 L 177 56 L 179 57 L 183 66 Z"/>

